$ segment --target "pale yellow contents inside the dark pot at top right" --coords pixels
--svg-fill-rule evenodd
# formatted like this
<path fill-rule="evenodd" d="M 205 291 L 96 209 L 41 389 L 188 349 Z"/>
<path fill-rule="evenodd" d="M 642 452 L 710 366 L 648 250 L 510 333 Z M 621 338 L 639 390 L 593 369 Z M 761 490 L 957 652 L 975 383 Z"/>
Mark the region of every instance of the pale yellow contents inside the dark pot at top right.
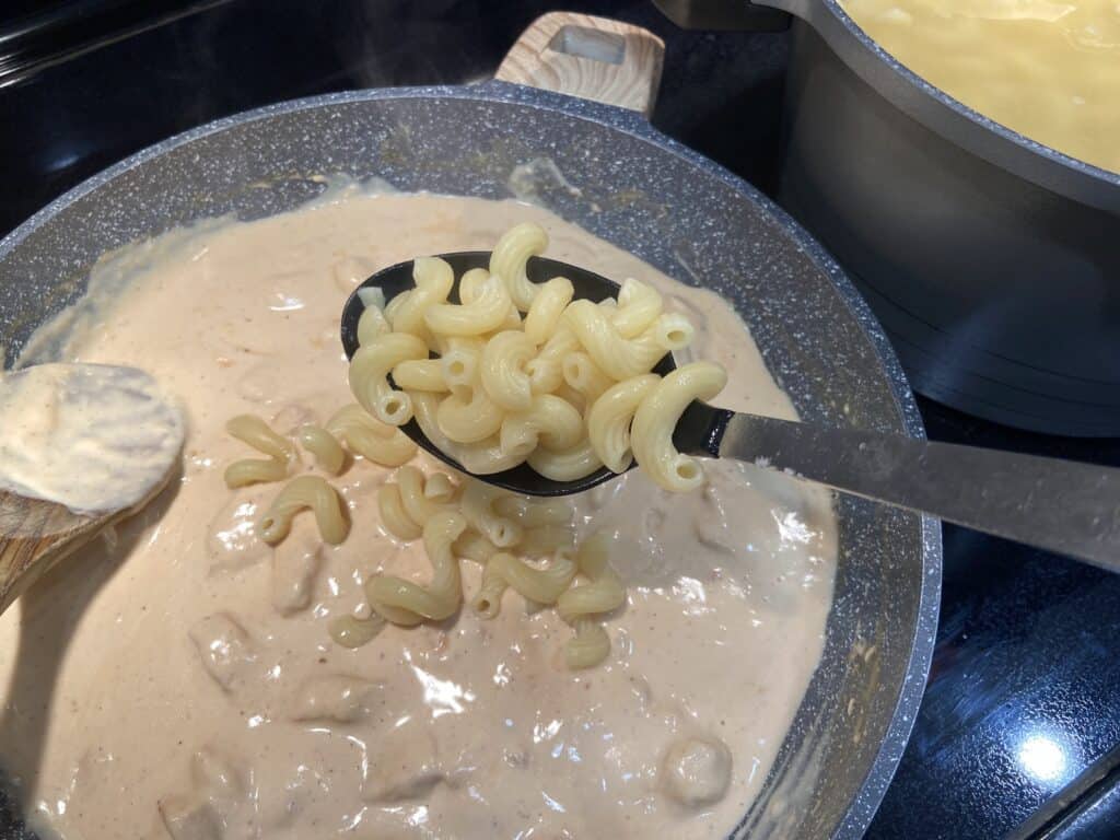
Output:
<path fill-rule="evenodd" d="M 840 0 L 916 74 L 986 116 L 1120 172 L 1116 0 Z"/>

